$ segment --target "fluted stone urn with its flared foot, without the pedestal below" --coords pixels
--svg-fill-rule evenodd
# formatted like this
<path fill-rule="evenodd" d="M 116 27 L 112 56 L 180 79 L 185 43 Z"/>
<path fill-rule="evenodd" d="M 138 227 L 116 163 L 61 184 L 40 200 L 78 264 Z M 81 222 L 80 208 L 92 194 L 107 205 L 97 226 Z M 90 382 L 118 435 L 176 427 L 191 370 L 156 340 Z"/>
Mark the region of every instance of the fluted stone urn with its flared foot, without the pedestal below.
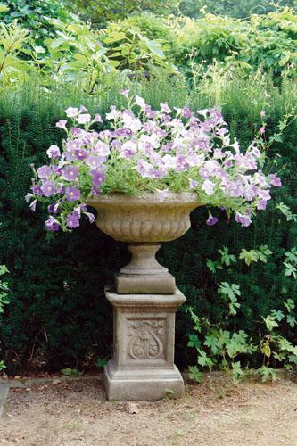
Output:
<path fill-rule="evenodd" d="M 155 258 L 161 242 L 186 234 L 190 213 L 202 206 L 197 194 L 106 194 L 87 202 L 97 211 L 96 225 L 119 242 L 127 242 L 132 258 L 115 277 L 117 293 L 173 294 L 175 279 Z"/>

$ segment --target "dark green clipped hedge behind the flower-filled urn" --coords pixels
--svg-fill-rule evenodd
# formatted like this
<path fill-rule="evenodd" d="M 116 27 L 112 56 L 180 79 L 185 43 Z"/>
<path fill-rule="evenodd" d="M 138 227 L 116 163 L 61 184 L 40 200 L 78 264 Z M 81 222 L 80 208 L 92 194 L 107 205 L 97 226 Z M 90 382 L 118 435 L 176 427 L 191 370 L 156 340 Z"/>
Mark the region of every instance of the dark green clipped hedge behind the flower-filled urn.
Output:
<path fill-rule="evenodd" d="M 59 143 L 62 133 L 54 127 L 62 111 L 70 105 L 85 104 L 90 110 L 104 112 L 111 103 L 120 103 L 117 94 L 120 79 L 106 81 L 102 94 L 85 97 L 79 86 L 54 87 L 52 91 L 32 83 L 15 93 L 4 91 L 0 102 L 0 263 L 10 269 L 11 303 L 0 318 L 0 346 L 10 369 L 25 372 L 31 368 L 83 367 L 97 358 L 111 355 L 111 308 L 103 295 L 103 286 L 111 284 L 113 271 L 128 261 L 122 244 L 100 233 L 95 226 L 85 224 L 73 234 L 46 235 L 45 212 L 29 211 L 24 195 L 29 190 L 29 164 L 45 161 L 45 150 Z M 232 85 L 231 85 L 232 84 Z M 186 91 L 168 80 L 152 81 L 132 86 L 150 103 L 169 101 L 180 106 L 186 102 Z M 244 83 L 230 82 L 221 94 L 223 111 L 233 134 L 243 144 L 250 142 L 264 101 L 264 89 L 251 91 Z M 261 97 L 263 95 L 263 97 Z M 293 85 L 282 92 L 269 90 L 265 110 L 270 131 L 285 112 L 288 103 L 296 102 Z M 196 106 L 213 103 L 211 88 L 206 87 L 190 101 Z M 266 97 L 266 96 L 265 96 Z M 276 201 L 283 201 L 297 211 L 296 167 L 297 127 L 285 130 L 284 143 L 270 149 L 273 157 L 281 153 L 280 166 L 285 186 L 276 192 Z M 241 286 L 242 308 L 232 319 L 234 329 L 256 333 L 261 315 L 280 308 L 287 298 L 296 301 L 296 286 L 285 278 L 282 262 L 284 252 L 296 244 L 297 225 L 269 205 L 266 213 L 255 219 L 252 227 L 242 228 L 227 223 L 222 211 L 215 227 L 206 227 L 207 210 L 194 212 L 192 229 L 182 239 L 164 244 L 159 258 L 177 278 L 177 285 L 186 294 L 187 302 L 177 314 L 177 364 L 186 367 L 194 361 L 188 350 L 187 335 L 191 320 L 186 306 L 199 315 L 220 320 L 223 307 L 216 293 L 216 282 L 206 268 L 206 259 L 218 258 L 223 245 L 236 254 L 244 247 L 252 249 L 268 244 L 273 256 L 268 264 L 247 268 L 238 263 L 232 282 Z M 216 215 L 217 215 L 216 213 Z M 286 285 L 287 293 L 281 293 Z M 293 329 L 285 327 L 285 335 L 295 341 Z M 296 337 L 296 335 L 295 335 Z M 0 355 L 1 356 L 1 355 Z"/>

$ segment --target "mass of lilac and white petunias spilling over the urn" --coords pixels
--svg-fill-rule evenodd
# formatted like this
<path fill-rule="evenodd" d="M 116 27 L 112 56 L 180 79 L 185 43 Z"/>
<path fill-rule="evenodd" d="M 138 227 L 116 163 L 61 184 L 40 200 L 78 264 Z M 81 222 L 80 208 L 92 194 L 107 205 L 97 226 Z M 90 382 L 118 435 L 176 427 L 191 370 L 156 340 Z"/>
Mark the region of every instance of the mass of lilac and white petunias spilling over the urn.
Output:
<path fill-rule="evenodd" d="M 68 108 L 67 119 L 56 123 L 66 134 L 62 147 L 51 145 L 49 162 L 32 166 L 26 200 L 33 211 L 37 202 L 47 205 L 48 230 L 78 227 L 82 215 L 94 221 L 87 202 L 102 194 L 151 192 L 166 200 L 169 192 L 194 192 L 244 227 L 266 209 L 271 186 L 281 180 L 263 173 L 265 151 L 257 139 L 243 152 L 218 110 L 171 110 L 168 103 L 153 110 L 142 97 L 120 93 L 127 108 L 111 106 L 105 121 L 83 106 Z M 207 223 L 216 222 L 210 214 Z"/>

